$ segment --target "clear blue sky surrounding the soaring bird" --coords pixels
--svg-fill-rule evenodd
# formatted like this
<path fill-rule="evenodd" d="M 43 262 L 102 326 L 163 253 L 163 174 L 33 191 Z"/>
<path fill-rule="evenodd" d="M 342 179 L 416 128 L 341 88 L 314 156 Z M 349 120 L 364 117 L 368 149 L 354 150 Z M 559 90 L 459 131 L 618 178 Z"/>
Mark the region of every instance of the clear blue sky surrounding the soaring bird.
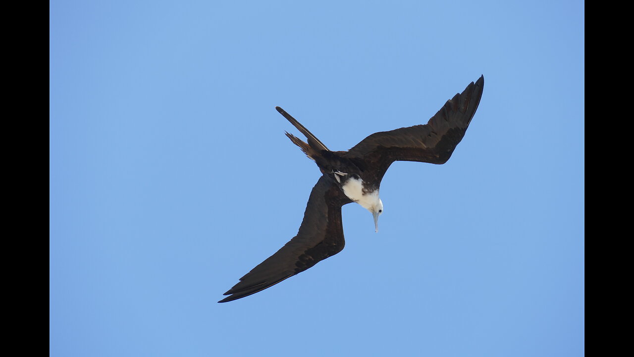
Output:
<path fill-rule="evenodd" d="M 51 1 L 51 356 L 582 356 L 581 1 Z M 395 163 L 346 248 L 217 304 L 334 150 L 481 74 L 445 165 Z"/>

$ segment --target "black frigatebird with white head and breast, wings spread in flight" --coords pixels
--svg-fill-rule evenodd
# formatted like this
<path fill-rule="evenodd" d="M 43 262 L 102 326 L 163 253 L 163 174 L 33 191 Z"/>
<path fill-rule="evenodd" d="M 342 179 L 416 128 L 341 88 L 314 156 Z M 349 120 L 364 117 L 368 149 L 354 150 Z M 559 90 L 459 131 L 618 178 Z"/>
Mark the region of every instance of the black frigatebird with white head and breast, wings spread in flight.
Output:
<path fill-rule="evenodd" d="M 444 164 L 469 127 L 482 97 L 484 76 L 448 100 L 425 125 L 381 131 L 348 151 L 330 151 L 313 133 L 280 107 L 276 110 L 297 128 L 306 142 L 286 132 L 290 140 L 321 171 L 308 198 L 297 235 L 275 254 L 245 274 L 219 302 L 242 299 L 313 267 L 343 250 L 341 208 L 356 202 L 372 213 L 375 231 L 383 213 L 379 187 L 394 161 Z"/>

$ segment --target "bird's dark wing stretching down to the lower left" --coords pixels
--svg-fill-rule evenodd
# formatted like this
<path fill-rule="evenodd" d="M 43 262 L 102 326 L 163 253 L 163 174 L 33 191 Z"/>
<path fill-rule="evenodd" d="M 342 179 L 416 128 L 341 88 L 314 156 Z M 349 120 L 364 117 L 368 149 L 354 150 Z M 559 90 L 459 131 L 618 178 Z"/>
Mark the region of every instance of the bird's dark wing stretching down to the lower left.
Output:
<path fill-rule="evenodd" d="M 322 176 L 311 191 L 297 236 L 240 278 L 219 302 L 260 292 L 305 271 L 344 248 L 341 206 L 351 203 L 331 179 Z"/>

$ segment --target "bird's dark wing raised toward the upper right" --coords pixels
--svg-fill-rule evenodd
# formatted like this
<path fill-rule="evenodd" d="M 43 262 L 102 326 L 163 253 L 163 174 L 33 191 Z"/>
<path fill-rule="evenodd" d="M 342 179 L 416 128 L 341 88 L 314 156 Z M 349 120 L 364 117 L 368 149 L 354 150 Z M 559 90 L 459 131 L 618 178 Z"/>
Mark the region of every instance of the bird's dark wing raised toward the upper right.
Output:
<path fill-rule="evenodd" d="M 427 124 L 373 133 L 344 156 L 361 166 L 376 168 L 373 173 L 377 182 L 394 161 L 444 164 L 465 135 L 483 89 L 481 76 L 448 100 Z"/>

